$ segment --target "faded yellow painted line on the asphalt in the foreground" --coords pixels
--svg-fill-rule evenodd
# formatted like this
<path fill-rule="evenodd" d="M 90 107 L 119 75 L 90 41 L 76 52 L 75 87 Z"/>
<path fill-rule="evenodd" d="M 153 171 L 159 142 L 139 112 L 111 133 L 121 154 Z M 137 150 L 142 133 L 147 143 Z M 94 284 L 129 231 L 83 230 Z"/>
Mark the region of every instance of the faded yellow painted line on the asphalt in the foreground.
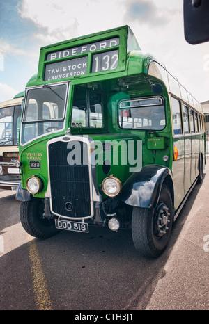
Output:
<path fill-rule="evenodd" d="M 47 282 L 42 271 L 42 262 L 36 247 L 36 241 L 29 241 L 29 258 L 31 260 L 31 273 L 33 291 L 36 305 L 40 310 L 52 310 L 52 301 L 47 289 Z"/>

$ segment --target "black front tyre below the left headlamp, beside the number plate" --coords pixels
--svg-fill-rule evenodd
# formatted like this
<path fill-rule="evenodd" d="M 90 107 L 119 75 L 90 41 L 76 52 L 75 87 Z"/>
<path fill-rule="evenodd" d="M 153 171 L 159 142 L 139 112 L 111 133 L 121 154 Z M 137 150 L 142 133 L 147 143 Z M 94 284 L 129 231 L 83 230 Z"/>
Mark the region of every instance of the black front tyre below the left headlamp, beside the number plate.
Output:
<path fill-rule="evenodd" d="M 43 218 L 44 204 L 41 199 L 33 199 L 20 204 L 20 221 L 22 227 L 31 236 L 49 238 L 58 232 L 54 220 Z"/>

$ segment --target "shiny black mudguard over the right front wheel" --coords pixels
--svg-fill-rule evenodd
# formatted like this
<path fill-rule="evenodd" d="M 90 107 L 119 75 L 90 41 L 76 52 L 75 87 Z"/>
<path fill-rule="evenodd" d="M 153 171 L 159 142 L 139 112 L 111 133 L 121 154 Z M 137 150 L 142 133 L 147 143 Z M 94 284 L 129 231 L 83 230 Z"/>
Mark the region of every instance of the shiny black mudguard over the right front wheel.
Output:
<path fill-rule="evenodd" d="M 163 183 L 169 186 L 173 198 L 171 170 L 162 165 L 147 165 L 127 179 L 118 198 L 130 206 L 155 208 Z"/>

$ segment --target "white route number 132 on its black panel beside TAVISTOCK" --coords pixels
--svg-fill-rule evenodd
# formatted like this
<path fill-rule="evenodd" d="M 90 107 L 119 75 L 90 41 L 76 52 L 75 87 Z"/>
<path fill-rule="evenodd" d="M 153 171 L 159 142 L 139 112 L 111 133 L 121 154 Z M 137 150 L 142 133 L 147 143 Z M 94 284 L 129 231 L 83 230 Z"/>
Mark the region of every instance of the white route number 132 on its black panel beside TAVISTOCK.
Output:
<path fill-rule="evenodd" d="M 91 72 L 114 70 L 118 67 L 118 50 L 93 55 Z"/>

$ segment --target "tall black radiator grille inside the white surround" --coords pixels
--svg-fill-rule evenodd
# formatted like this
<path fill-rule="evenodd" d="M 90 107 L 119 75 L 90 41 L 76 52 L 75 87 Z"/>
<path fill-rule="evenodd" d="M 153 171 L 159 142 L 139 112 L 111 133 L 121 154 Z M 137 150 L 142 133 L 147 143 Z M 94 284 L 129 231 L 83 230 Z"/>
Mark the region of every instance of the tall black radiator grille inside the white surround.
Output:
<path fill-rule="evenodd" d="M 91 215 L 86 154 L 88 154 L 87 145 L 82 141 L 71 141 L 70 148 L 68 143 L 62 141 L 49 144 L 52 213 L 70 218 Z M 72 164 L 72 157 L 75 158 L 75 164 Z"/>

